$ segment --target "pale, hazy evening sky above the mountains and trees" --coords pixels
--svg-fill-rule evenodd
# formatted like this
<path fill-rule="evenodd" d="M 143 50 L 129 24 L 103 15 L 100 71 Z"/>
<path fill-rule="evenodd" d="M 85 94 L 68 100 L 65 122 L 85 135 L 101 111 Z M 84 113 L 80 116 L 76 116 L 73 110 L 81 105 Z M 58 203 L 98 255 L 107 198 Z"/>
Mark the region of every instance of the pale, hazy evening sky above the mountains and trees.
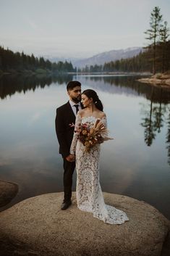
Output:
<path fill-rule="evenodd" d="M 0 0 L 0 45 L 68 59 L 143 47 L 156 6 L 170 27 L 170 0 Z"/>

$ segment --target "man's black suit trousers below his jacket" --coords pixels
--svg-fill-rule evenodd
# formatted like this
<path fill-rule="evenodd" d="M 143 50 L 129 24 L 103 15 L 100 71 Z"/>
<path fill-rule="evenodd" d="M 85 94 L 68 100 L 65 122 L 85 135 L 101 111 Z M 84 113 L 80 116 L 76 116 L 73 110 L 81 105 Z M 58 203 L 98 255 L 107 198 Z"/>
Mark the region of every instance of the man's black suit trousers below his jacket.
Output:
<path fill-rule="evenodd" d="M 75 170 L 75 162 L 69 162 L 63 158 L 63 168 L 64 168 L 64 201 L 67 202 L 72 197 L 72 175 Z"/>

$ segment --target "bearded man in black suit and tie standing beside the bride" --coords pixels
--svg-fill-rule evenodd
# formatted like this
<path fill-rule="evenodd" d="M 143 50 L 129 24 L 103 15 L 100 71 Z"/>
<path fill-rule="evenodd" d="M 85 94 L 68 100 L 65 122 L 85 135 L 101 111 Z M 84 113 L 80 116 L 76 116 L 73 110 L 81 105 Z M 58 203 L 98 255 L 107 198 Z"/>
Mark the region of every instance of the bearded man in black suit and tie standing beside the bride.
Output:
<path fill-rule="evenodd" d="M 67 84 L 67 94 L 69 101 L 56 109 L 56 136 L 59 141 L 59 153 L 63 157 L 64 167 L 64 201 L 61 210 L 66 210 L 72 204 L 72 174 L 75 170 L 75 158 L 69 154 L 72 144 L 72 137 L 75 127 L 75 117 L 78 110 L 82 109 L 81 101 L 81 83 L 70 81 Z"/>

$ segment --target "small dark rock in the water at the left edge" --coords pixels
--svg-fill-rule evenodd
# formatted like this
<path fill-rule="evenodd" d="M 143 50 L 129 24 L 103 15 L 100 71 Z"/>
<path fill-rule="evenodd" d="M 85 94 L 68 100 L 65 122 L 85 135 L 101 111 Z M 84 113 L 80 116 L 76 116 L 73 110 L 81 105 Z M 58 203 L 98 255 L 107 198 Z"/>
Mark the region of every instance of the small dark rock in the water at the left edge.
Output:
<path fill-rule="evenodd" d="M 7 205 L 16 196 L 17 191 L 17 184 L 0 181 L 0 207 Z"/>

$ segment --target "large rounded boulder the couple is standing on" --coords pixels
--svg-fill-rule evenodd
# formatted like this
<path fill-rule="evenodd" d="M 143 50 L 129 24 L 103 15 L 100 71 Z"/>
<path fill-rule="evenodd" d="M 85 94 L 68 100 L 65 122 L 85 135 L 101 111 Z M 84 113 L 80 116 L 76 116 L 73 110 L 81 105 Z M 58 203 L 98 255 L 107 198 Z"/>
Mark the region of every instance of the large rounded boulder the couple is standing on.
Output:
<path fill-rule="evenodd" d="M 60 210 L 63 193 L 26 199 L 0 213 L 0 255 L 157 256 L 169 220 L 136 199 L 104 193 L 107 205 L 127 212 L 129 221 L 110 225 L 72 206 Z"/>

